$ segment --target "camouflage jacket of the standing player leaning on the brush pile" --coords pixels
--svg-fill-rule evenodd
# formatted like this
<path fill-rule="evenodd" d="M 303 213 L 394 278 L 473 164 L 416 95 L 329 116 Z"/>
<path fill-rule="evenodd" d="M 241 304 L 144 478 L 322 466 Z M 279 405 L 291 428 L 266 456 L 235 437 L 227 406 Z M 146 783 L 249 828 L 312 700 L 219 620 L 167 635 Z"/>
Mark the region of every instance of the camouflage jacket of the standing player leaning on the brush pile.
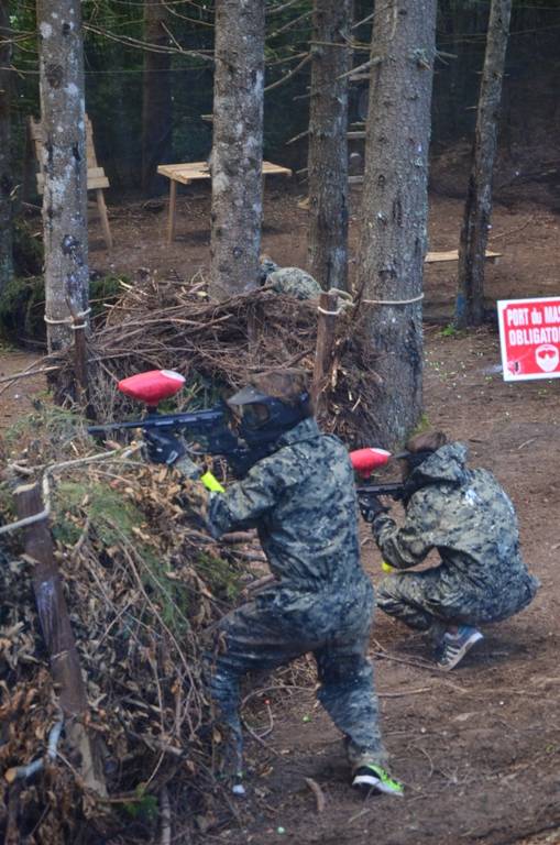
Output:
<path fill-rule="evenodd" d="M 297 591 L 352 590 L 360 563 L 352 467 L 338 438 L 305 419 L 226 493 L 211 493 L 213 536 L 256 527 L 272 572 Z"/>

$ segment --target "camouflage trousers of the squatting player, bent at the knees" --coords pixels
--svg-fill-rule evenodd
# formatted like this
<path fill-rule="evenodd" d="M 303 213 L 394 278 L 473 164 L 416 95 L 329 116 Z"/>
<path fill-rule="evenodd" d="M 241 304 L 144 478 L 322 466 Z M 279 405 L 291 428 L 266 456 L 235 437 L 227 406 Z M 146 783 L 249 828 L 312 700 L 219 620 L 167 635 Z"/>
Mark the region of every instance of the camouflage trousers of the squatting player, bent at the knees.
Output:
<path fill-rule="evenodd" d="M 481 588 L 440 566 L 384 578 L 377 588 L 377 606 L 415 630 L 428 630 L 435 622 L 481 625 L 518 613 L 532 601 L 537 589 L 538 581 L 531 575 L 499 579 Z"/>

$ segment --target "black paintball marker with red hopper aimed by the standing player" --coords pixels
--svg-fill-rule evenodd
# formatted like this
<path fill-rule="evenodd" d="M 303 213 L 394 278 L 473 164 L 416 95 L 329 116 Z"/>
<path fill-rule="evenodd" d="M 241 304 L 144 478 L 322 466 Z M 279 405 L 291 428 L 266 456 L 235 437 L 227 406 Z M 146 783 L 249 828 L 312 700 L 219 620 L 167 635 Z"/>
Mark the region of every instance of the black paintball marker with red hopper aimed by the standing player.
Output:
<path fill-rule="evenodd" d="M 89 426 L 90 435 L 106 435 L 109 431 L 121 431 L 131 428 L 141 428 L 143 431 L 160 430 L 177 432 L 186 438 L 200 438 L 202 441 L 201 453 L 222 454 L 228 461 L 242 461 L 246 449 L 242 447 L 228 426 L 228 410 L 217 406 L 208 410 L 182 411 L 174 414 L 160 414 L 157 405 L 169 396 L 174 396 L 185 384 L 180 373 L 173 370 L 150 370 L 145 373 L 131 375 L 118 383 L 118 388 L 127 396 L 143 402 L 146 405 L 146 415 L 141 419 L 125 420 L 123 422 L 108 422 L 101 426 Z"/>

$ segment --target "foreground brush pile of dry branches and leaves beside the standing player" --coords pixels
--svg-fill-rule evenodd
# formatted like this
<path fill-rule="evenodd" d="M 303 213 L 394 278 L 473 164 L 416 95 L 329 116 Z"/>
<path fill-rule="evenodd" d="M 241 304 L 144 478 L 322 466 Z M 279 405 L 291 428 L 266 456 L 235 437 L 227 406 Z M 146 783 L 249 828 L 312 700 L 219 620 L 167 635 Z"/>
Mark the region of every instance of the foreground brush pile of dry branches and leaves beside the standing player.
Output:
<path fill-rule="evenodd" d="M 259 557 L 248 551 L 252 538 L 219 545 L 201 534 L 180 505 L 173 471 L 134 457 L 80 462 L 96 447 L 70 414 L 44 411 L 13 435 L 15 441 L 26 450 L 4 471 L 0 523 L 14 518 L 14 482 L 36 479 L 48 465 L 55 553 L 86 677 L 87 729 L 108 798 L 88 791 L 64 731 L 58 739 L 61 712 L 37 622 L 33 562 L 17 557 L 20 547 L 8 546 L 4 535 L 0 838 L 3 833 L 9 841 L 14 795 L 15 841 L 36 845 L 98 842 L 102 831 L 127 832 L 114 842 L 145 841 L 157 828 L 168 783 L 167 800 L 174 808 L 182 803 L 185 824 L 196 815 L 219 819 L 224 803 L 211 758 L 219 737 L 209 727 L 201 632 L 262 573 L 246 564 Z M 68 454 L 76 462 L 64 460 L 57 472 L 56 462 Z"/>

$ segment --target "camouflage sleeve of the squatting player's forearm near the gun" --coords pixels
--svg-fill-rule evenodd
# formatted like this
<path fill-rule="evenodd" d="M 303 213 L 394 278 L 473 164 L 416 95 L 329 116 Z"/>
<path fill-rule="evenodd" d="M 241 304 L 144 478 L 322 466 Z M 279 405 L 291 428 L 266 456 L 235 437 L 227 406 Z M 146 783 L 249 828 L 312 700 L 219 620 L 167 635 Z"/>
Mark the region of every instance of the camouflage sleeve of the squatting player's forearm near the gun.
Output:
<path fill-rule="evenodd" d="M 416 494 L 408 503 L 406 519 L 400 528 L 386 514 L 380 514 L 373 520 L 372 533 L 383 560 L 395 569 L 408 569 L 421 563 L 433 548 L 427 513 L 429 505 L 425 496 Z"/>

